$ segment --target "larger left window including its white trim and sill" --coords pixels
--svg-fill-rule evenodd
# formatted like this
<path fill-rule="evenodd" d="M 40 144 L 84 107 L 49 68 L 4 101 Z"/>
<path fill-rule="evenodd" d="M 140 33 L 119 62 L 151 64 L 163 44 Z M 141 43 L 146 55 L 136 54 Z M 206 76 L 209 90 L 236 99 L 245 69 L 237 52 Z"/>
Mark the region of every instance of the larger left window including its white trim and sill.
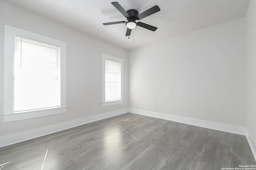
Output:
<path fill-rule="evenodd" d="M 66 112 L 66 43 L 5 25 L 4 122 Z"/>

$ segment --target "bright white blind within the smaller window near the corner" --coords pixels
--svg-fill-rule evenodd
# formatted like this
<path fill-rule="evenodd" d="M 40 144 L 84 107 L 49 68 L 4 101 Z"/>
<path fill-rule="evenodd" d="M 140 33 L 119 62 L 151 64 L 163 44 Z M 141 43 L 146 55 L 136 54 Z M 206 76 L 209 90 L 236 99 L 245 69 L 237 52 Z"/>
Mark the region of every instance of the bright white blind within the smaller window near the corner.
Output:
<path fill-rule="evenodd" d="M 121 63 L 105 59 L 105 101 L 121 100 Z"/>

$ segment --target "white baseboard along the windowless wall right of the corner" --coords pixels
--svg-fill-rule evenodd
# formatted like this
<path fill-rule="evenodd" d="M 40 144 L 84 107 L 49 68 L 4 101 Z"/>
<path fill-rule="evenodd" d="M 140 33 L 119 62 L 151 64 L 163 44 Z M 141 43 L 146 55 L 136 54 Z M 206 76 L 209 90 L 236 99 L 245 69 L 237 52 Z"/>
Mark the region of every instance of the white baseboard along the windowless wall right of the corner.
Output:
<path fill-rule="evenodd" d="M 170 120 L 170 121 L 176 121 L 179 123 L 186 123 L 188 125 L 205 127 L 205 128 L 209 128 L 209 129 L 215 129 L 218 131 L 236 133 L 239 135 L 247 134 L 247 128 L 243 127 L 243 126 L 238 126 L 238 125 L 230 125 L 230 124 L 218 123 L 218 122 L 214 122 L 214 121 L 206 121 L 206 120 L 202 120 L 202 119 L 194 119 L 194 118 L 190 118 L 190 117 L 170 115 L 167 113 L 159 113 L 159 112 L 141 110 L 141 109 L 129 108 L 128 111 L 130 113 L 135 113 L 135 114 L 145 115 L 145 116 L 150 116 L 150 117 L 156 117 L 159 119 L 165 119 L 165 120 Z"/>

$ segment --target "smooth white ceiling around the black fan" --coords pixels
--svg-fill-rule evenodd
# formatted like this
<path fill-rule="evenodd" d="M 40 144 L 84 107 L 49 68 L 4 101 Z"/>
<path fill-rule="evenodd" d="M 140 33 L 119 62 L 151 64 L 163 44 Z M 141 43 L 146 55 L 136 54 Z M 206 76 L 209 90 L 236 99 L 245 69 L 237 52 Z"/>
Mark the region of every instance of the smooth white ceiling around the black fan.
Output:
<path fill-rule="evenodd" d="M 250 0 L 118 0 L 125 9 L 139 13 L 158 5 L 160 12 L 140 20 L 158 27 L 150 31 L 134 29 L 130 39 L 125 36 L 125 23 L 102 25 L 104 22 L 126 21 L 111 4 L 114 0 L 5 0 L 22 8 L 51 18 L 94 37 L 122 47 L 134 49 L 246 16 Z"/>

